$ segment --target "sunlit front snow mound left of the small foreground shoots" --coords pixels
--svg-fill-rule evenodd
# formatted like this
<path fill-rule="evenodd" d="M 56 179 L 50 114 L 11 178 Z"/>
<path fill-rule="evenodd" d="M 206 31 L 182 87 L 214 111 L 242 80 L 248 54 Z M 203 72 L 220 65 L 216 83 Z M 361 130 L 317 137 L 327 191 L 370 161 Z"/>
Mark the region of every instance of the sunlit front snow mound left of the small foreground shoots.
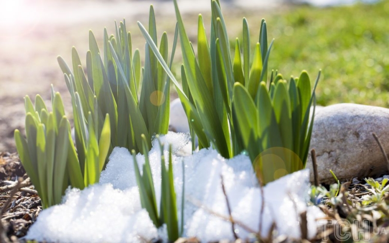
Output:
<path fill-rule="evenodd" d="M 142 242 L 158 237 L 136 187 L 120 191 L 112 185 L 68 190 L 61 205 L 39 214 L 26 239 L 39 242 Z"/>

